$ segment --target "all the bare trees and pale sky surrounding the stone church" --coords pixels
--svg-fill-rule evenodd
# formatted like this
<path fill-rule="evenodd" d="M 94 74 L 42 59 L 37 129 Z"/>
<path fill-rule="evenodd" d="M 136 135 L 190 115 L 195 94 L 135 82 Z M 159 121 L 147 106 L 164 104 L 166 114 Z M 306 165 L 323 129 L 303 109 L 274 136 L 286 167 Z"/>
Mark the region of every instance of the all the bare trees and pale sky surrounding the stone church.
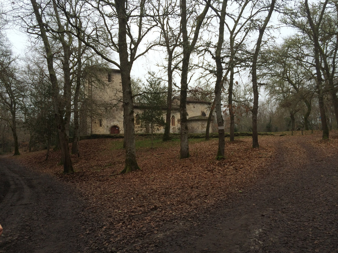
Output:
<path fill-rule="evenodd" d="M 133 103 L 154 78 L 166 92 L 164 141 L 172 97 L 180 97 L 181 158 L 189 157 L 187 96 L 211 103 L 217 159 L 226 156 L 225 132 L 231 141 L 235 132 L 252 132 L 252 147 L 259 146 L 258 132 L 320 129 L 329 138 L 338 120 L 337 20 L 335 1 L 2 2 L 1 152 L 46 148 L 48 159 L 57 146 L 64 172 L 73 172 L 70 153 L 78 153 L 88 101 L 83 76 L 92 66 L 121 71 L 123 172 L 139 169 Z M 27 34 L 24 54 L 8 40 L 13 26 Z M 152 72 L 143 78 L 135 67 L 146 65 Z M 99 115 L 97 108 L 90 110 Z"/>

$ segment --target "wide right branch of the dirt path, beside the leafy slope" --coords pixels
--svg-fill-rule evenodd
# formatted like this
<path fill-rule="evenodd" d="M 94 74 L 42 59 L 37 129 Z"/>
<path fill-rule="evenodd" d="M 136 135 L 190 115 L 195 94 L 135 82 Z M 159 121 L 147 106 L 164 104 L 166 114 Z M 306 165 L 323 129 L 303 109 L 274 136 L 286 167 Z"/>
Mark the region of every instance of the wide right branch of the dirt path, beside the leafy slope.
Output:
<path fill-rule="evenodd" d="M 280 145 L 263 180 L 142 252 L 338 252 L 338 157 L 301 137 L 294 149 Z"/>

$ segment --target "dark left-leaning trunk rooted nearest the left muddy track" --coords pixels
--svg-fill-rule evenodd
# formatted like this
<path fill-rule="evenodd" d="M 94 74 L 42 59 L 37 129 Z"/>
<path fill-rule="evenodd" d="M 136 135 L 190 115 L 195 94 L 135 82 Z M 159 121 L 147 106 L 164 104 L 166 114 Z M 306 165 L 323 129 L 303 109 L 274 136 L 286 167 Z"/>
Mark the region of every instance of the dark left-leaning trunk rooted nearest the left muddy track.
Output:
<path fill-rule="evenodd" d="M 69 154 L 69 146 L 68 146 L 68 138 L 66 134 L 66 128 L 65 128 L 65 122 L 61 113 L 60 108 L 60 99 L 59 99 L 59 87 L 57 83 L 56 74 L 54 71 L 53 66 L 53 52 L 51 50 L 48 37 L 46 34 L 44 22 L 41 18 L 39 5 L 35 0 L 31 0 L 31 4 L 34 10 L 35 18 L 37 19 L 39 28 L 40 28 L 40 36 L 43 40 L 45 51 L 46 51 L 46 60 L 47 60 L 47 67 L 49 72 L 49 78 L 52 85 L 52 102 L 53 102 L 53 109 L 55 112 L 55 119 L 56 119 L 56 125 L 58 130 L 58 136 L 60 140 L 60 146 L 61 146 L 61 153 L 62 158 L 61 160 L 64 161 L 64 173 L 72 173 L 74 172 L 72 161 Z"/>

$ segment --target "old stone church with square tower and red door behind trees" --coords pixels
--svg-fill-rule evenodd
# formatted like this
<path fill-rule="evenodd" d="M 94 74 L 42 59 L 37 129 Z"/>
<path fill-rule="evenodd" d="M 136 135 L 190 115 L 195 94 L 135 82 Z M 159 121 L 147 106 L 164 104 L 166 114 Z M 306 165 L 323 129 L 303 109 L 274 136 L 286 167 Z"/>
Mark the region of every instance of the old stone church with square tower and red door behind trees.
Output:
<path fill-rule="evenodd" d="M 123 134 L 123 102 L 120 70 L 92 67 L 85 80 L 85 98 L 80 108 L 80 135 Z M 205 133 L 210 103 L 187 98 L 189 133 Z M 134 105 L 135 133 L 147 133 L 141 128 L 139 116 L 144 108 Z M 165 119 L 166 111 L 163 110 Z M 170 133 L 180 132 L 179 97 L 173 98 Z M 214 124 L 211 123 L 210 132 Z M 164 127 L 155 129 L 163 133 Z"/>

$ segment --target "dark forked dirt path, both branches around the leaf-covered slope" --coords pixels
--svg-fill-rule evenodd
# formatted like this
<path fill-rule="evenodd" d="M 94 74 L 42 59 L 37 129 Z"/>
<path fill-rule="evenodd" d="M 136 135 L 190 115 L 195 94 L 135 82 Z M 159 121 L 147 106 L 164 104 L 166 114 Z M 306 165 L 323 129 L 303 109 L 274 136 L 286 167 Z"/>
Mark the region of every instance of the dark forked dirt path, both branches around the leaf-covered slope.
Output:
<path fill-rule="evenodd" d="M 297 138 L 256 184 L 124 248 L 95 240 L 104 217 L 72 188 L 0 160 L 0 252 L 338 252 L 337 152 Z"/>

